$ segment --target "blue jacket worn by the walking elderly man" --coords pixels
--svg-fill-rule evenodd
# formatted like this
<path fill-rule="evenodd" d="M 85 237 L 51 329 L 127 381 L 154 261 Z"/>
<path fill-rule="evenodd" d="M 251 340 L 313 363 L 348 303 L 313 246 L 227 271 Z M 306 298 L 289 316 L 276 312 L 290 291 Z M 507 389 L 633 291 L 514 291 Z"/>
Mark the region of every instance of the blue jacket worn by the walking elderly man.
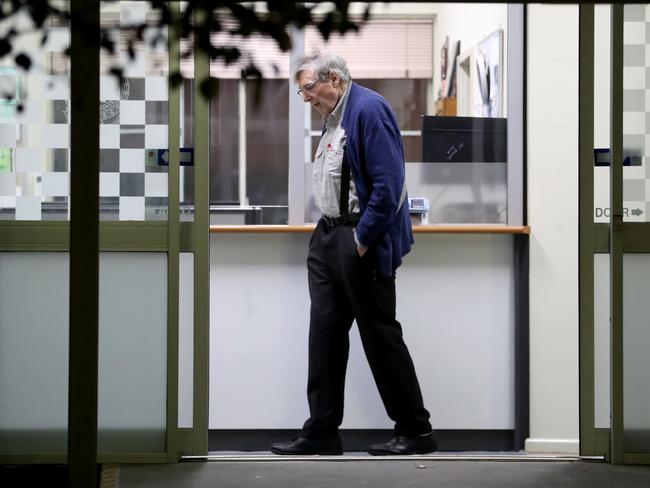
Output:
<path fill-rule="evenodd" d="M 414 242 L 408 205 L 398 209 L 405 169 L 397 119 L 381 95 L 352 83 L 341 125 L 361 210 L 357 239 L 374 248 L 377 272 L 392 276 Z"/>

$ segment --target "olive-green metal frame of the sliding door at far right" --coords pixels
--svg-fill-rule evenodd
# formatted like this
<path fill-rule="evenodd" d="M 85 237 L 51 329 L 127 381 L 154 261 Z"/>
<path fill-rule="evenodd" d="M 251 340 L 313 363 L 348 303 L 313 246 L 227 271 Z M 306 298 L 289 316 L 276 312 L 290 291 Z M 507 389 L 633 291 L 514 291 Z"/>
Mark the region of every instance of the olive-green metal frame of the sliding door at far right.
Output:
<path fill-rule="evenodd" d="M 650 253 L 650 223 L 623 222 L 624 5 L 611 6 L 610 222 L 594 223 L 594 5 L 579 21 L 579 314 L 580 454 L 613 464 L 650 464 L 650 453 L 626 453 L 623 395 L 623 255 Z M 595 427 L 594 255 L 610 256 L 610 428 Z"/>

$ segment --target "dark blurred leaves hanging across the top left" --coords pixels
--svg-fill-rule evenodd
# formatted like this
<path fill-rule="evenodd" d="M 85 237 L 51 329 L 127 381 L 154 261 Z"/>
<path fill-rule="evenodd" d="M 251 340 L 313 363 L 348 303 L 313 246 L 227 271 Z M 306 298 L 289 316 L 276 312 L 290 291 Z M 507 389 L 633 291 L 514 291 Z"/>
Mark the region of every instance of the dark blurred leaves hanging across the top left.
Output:
<path fill-rule="evenodd" d="M 142 0 L 145 1 L 145 0 Z M 350 1 L 335 0 L 327 2 L 330 7 L 323 12 L 316 10 L 318 2 L 302 3 L 289 0 L 268 0 L 266 2 L 238 2 L 234 0 L 189 0 L 184 2 L 184 9 L 179 15 L 174 15 L 169 1 L 146 0 L 152 15 L 144 23 L 129 25 L 110 25 L 102 23 L 100 26 L 100 48 L 108 54 L 115 54 L 115 30 L 127 42 L 127 52 L 131 59 L 135 58 L 135 46 L 145 42 L 145 31 L 157 29 L 157 35 L 147 40 L 153 46 L 159 42 L 166 42 L 163 29 L 169 28 L 181 39 L 195 39 L 194 49 L 207 54 L 211 60 L 222 60 L 225 65 L 241 63 L 242 78 L 262 79 L 262 72 L 255 65 L 252 57 L 242 52 L 235 45 L 214 45 L 214 33 L 227 33 L 233 39 L 248 38 L 259 35 L 275 41 L 282 51 L 291 49 L 291 36 L 289 29 L 299 29 L 309 25 L 315 26 L 323 39 L 327 40 L 331 34 L 357 32 L 359 27 L 370 17 L 370 4 L 362 16 L 352 18 L 349 12 Z M 106 1 L 105 4 L 117 3 L 115 0 Z M 17 27 L 18 17 L 28 16 L 31 26 Z M 155 19 L 155 20 L 151 20 Z M 32 67 L 32 60 L 28 53 L 20 50 L 19 38 L 25 32 L 37 31 L 41 35 L 41 45 L 47 42 L 50 28 L 53 26 L 66 26 L 70 22 L 85 22 L 83 16 L 79 19 L 70 18 L 69 2 L 62 0 L 0 0 L 0 58 L 13 56 L 17 66 L 24 70 Z M 85 31 L 85 29 L 84 29 Z M 92 32 L 92 29 L 89 30 Z M 68 48 L 69 49 L 69 48 Z M 191 52 L 181 53 L 182 56 L 191 56 Z M 122 78 L 119 66 L 113 66 L 110 72 Z M 170 83 L 178 85 L 182 81 L 180 72 L 170 73 Z M 207 97 L 217 94 L 218 83 L 208 78 L 201 85 L 201 90 Z M 1 96 L 2 94 L 0 94 Z"/>

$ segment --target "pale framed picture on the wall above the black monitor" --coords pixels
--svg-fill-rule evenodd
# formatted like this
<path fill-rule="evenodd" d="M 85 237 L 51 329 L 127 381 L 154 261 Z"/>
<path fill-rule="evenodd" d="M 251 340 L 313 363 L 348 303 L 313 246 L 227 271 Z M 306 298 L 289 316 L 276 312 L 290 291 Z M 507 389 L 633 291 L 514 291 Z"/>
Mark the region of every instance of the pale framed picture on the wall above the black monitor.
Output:
<path fill-rule="evenodd" d="M 503 30 L 497 29 L 480 41 L 476 50 L 475 114 L 503 116 Z"/>

